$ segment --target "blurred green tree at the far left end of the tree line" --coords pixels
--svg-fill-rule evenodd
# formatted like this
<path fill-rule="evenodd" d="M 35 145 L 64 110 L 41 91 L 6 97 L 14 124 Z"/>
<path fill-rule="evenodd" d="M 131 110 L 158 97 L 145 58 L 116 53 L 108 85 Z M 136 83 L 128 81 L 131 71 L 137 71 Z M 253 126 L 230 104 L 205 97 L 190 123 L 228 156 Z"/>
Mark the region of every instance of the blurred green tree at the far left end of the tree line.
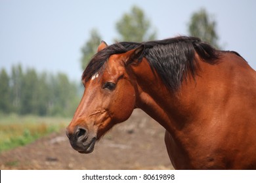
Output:
<path fill-rule="evenodd" d="M 2 69 L 0 73 L 0 111 L 5 113 L 11 110 L 11 88 L 9 82 L 10 78 L 7 72 Z"/>

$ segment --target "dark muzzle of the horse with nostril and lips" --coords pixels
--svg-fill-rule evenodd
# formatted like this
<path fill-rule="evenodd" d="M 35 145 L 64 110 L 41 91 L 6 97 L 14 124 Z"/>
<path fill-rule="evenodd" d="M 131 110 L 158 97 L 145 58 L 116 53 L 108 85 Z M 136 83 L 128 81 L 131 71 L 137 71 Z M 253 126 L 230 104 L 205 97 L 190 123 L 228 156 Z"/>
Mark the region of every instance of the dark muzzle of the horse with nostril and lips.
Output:
<path fill-rule="evenodd" d="M 95 148 L 96 135 L 90 135 L 87 129 L 77 127 L 74 133 L 66 130 L 66 135 L 70 140 L 70 144 L 74 150 L 79 153 L 88 154 L 93 152 Z"/>

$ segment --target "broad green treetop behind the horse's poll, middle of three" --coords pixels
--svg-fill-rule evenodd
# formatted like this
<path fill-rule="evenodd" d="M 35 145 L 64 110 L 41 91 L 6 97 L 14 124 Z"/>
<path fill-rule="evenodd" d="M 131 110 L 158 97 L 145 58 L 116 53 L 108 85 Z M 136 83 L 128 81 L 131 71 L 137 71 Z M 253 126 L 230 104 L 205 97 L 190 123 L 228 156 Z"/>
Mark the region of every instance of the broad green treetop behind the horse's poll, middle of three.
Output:
<path fill-rule="evenodd" d="M 123 14 L 116 23 L 119 33 L 118 41 L 150 41 L 156 39 L 156 30 L 152 30 L 150 20 L 146 18 L 142 9 L 137 6 L 131 12 Z"/>

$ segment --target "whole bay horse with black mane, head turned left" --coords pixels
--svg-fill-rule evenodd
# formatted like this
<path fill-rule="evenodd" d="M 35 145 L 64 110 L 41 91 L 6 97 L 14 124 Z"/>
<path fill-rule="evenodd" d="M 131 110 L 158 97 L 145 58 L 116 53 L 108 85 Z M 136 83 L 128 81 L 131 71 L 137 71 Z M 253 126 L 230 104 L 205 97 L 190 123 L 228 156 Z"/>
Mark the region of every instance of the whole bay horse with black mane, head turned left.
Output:
<path fill-rule="evenodd" d="M 82 81 L 66 129 L 78 152 L 141 108 L 166 129 L 175 169 L 256 169 L 256 73 L 238 53 L 185 36 L 102 42 Z"/>

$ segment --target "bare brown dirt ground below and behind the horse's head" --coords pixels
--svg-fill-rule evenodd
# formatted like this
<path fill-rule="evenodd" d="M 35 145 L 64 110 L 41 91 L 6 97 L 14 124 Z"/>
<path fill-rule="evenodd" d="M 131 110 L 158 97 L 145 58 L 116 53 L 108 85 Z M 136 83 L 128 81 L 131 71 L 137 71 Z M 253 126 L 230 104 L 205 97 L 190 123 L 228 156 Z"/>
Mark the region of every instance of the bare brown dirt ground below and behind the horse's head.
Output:
<path fill-rule="evenodd" d="M 173 169 L 165 129 L 141 110 L 116 125 L 91 154 L 79 154 L 64 129 L 0 154 L 0 169 Z"/>

